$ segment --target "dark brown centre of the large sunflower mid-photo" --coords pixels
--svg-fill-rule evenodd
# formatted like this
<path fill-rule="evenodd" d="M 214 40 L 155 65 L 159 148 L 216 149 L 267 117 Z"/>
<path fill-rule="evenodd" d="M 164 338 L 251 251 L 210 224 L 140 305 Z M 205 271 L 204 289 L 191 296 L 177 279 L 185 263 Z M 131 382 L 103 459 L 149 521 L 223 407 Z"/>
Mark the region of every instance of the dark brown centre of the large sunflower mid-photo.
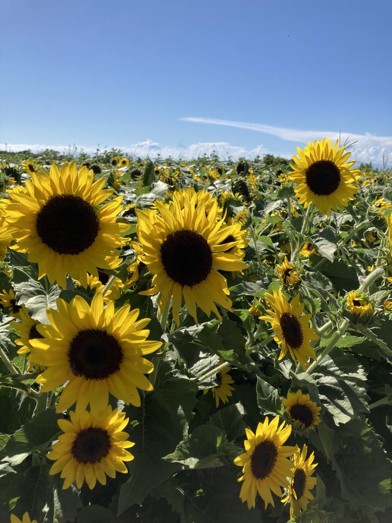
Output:
<path fill-rule="evenodd" d="M 212 252 L 205 238 L 194 231 L 170 233 L 160 247 L 166 274 L 180 285 L 197 285 L 212 269 Z"/>

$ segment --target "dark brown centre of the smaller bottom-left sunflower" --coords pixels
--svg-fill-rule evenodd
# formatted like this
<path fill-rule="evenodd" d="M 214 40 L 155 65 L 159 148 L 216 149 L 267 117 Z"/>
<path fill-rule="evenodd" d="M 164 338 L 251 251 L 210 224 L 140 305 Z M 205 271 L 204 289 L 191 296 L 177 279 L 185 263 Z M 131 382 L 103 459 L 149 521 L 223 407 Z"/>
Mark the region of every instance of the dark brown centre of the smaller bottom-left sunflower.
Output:
<path fill-rule="evenodd" d="M 111 449 L 110 436 L 107 430 L 89 427 L 80 430 L 73 445 L 72 455 L 78 463 L 98 463 L 105 458 Z"/>

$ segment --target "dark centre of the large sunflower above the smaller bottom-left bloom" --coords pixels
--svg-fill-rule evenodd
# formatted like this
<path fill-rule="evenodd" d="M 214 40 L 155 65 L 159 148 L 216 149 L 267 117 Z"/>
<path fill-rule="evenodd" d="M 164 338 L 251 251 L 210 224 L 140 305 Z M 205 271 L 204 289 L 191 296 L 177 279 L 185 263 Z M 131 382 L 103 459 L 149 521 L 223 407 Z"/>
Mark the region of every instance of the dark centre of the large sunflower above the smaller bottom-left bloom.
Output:
<path fill-rule="evenodd" d="M 89 328 L 72 338 L 67 358 L 74 376 L 105 380 L 120 370 L 123 353 L 116 338 L 106 331 Z"/>

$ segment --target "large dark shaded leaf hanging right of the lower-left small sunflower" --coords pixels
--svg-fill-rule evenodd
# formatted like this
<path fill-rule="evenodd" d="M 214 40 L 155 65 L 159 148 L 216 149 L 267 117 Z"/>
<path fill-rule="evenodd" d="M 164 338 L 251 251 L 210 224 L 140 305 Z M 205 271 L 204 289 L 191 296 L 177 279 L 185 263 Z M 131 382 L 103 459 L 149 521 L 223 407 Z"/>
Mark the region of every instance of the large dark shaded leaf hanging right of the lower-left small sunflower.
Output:
<path fill-rule="evenodd" d="M 162 458 L 188 434 L 197 384 L 183 376 L 172 361 L 159 363 L 154 391 L 145 394 L 142 406 L 126 407 L 136 424 L 130 431 L 134 460 L 129 463 L 130 479 L 120 488 L 118 513 L 142 503 L 152 487 L 179 470 L 178 463 Z"/>

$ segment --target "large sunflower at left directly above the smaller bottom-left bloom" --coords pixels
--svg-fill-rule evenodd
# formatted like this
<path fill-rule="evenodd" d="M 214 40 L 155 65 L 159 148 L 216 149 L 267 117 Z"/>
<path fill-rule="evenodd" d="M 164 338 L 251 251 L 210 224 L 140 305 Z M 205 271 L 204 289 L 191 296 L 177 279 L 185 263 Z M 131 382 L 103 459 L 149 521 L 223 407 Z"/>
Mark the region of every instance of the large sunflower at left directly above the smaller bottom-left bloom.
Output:
<path fill-rule="evenodd" d="M 108 404 L 108 393 L 127 405 L 140 406 L 136 387 L 153 390 L 144 376 L 154 365 L 144 359 L 162 343 L 147 341 L 143 330 L 151 320 L 136 321 L 139 309 L 124 305 L 114 313 L 111 301 L 103 308 L 102 294 L 94 295 L 91 306 L 80 296 L 70 303 L 57 299 L 57 309 L 47 310 L 50 325 L 39 325 L 42 339 L 31 340 L 29 360 L 48 367 L 37 378 L 47 392 L 65 385 L 57 412 L 65 411 L 76 401 L 80 408 Z"/>

